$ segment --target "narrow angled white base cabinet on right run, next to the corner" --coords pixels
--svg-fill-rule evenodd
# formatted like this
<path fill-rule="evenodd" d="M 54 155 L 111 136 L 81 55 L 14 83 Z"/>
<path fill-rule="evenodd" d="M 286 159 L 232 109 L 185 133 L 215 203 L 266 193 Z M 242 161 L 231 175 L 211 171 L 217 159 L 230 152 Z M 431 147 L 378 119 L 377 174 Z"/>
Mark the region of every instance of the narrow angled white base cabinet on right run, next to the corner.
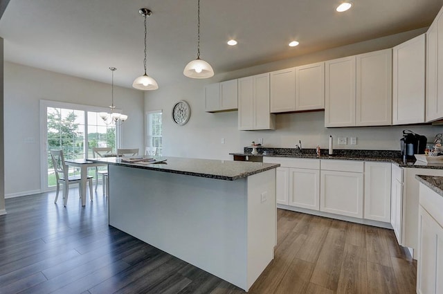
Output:
<path fill-rule="evenodd" d="M 395 237 L 402 245 L 403 223 L 403 169 L 392 163 L 391 174 L 391 200 L 390 200 L 390 224 L 394 229 Z"/>

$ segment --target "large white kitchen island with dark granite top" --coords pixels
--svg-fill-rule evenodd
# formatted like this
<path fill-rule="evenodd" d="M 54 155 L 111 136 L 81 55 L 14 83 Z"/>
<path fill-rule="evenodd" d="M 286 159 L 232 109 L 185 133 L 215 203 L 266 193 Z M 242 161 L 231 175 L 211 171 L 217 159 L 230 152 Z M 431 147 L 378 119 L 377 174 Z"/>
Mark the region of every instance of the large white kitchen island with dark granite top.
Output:
<path fill-rule="evenodd" d="M 248 291 L 273 259 L 278 164 L 99 158 L 109 225 Z"/>

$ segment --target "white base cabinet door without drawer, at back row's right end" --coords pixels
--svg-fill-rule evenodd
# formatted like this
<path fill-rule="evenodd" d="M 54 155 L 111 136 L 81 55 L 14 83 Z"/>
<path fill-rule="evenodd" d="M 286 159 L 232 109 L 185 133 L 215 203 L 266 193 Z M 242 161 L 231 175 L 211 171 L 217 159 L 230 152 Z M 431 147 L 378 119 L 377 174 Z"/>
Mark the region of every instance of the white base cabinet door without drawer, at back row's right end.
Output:
<path fill-rule="evenodd" d="M 364 219 L 390 222 L 391 165 L 365 161 Z"/>

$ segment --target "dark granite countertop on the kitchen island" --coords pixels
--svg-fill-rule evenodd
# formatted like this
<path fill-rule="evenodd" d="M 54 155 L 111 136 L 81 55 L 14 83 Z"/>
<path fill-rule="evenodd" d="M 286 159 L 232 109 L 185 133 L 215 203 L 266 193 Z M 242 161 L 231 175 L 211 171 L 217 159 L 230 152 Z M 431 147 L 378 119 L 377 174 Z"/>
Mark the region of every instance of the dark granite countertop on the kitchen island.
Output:
<path fill-rule="evenodd" d="M 165 163 L 143 164 L 125 163 L 122 158 L 95 158 L 89 159 L 97 163 L 107 163 L 109 165 L 120 165 L 125 167 L 135 167 L 138 169 L 150 169 L 159 172 L 170 172 L 173 174 L 186 174 L 188 176 L 201 176 L 204 178 L 217 178 L 219 180 L 235 181 L 239 178 L 246 178 L 253 174 L 258 174 L 269 169 L 279 167 L 273 163 L 253 163 L 234 160 L 213 160 L 181 157 L 158 157 L 158 160 L 166 160 Z"/>

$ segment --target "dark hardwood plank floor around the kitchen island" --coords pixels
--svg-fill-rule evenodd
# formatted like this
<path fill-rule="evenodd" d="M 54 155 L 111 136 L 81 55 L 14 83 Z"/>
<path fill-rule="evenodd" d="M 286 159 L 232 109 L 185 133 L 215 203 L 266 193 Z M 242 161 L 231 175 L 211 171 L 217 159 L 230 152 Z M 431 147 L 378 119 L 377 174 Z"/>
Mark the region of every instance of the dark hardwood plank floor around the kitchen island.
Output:
<path fill-rule="evenodd" d="M 107 225 L 107 198 L 6 199 L 0 293 L 209 293 L 241 289 Z M 416 264 L 392 230 L 278 210 L 275 259 L 248 293 L 413 294 Z"/>

